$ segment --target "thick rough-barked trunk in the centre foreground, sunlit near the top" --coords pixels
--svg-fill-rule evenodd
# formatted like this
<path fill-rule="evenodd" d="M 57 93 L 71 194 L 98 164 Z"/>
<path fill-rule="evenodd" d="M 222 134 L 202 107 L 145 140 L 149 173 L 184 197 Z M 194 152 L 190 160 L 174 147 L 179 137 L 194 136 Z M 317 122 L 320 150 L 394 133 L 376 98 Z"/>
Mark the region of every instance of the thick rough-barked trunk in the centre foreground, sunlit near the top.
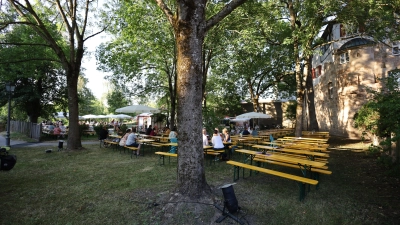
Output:
<path fill-rule="evenodd" d="M 209 191 L 204 172 L 202 145 L 202 48 L 205 35 L 205 5 L 180 2 L 174 24 L 178 48 L 178 190 L 198 198 Z"/>

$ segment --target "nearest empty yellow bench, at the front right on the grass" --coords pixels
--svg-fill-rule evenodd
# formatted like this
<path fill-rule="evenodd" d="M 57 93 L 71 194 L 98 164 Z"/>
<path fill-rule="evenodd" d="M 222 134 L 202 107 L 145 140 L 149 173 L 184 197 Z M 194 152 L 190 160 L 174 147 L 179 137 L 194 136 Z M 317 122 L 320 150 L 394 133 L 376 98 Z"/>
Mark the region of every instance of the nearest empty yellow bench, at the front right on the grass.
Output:
<path fill-rule="evenodd" d="M 266 173 L 266 174 L 270 174 L 270 175 L 274 175 L 274 176 L 278 176 L 278 177 L 283 177 L 289 180 L 294 180 L 297 181 L 297 184 L 299 186 L 299 193 L 300 193 L 300 201 L 302 201 L 305 197 L 305 185 L 317 185 L 318 181 L 314 180 L 314 179 L 310 179 L 310 178 L 306 178 L 306 177 L 301 177 L 301 176 L 296 176 L 296 175 L 292 175 L 292 174 L 288 174 L 288 173 L 283 173 L 283 172 L 279 172 L 279 171 L 275 171 L 275 170 L 270 170 L 270 169 L 265 169 L 262 167 L 258 167 L 258 166 L 253 166 L 253 165 L 249 165 L 249 164 L 245 164 L 245 163 L 240 163 L 240 162 L 236 162 L 236 161 L 227 161 L 227 164 L 233 165 L 233 180 L 239 180 L 240 177 L 240 168 L 243 169 L 243 175 L 242 177 L 244 178 L 244 169 L 249 169 L 249 170 L 254 170 L 260 173 Z"/>

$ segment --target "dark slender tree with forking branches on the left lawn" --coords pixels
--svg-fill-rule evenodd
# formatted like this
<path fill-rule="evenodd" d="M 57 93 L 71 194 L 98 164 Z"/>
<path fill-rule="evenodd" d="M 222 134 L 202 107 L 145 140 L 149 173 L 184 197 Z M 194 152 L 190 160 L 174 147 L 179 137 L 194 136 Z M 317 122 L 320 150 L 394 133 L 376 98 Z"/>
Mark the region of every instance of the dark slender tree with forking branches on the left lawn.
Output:
<path fill-rule="evenodd" d="M 97 1 L 55 0 L 32 3 L 29 0 L 23 2 L 8 0 L 8 2 L 9 6 L 14 9 L 10 13 L 16 12 L 18 17 L 9 17 L 9 20 L 2 22 L 0 26 L 26 25 L 32 28 L 55 52 L 65 70 L 69 111 L 67 145 L 69 149 L 79 149 L 82 147 L 82 143 L 78 126 L 79 98 L 77 86 L 85 52 L 84 42 L 99 33 L 92 33 L 87 30 L 88 25 L 90 25 L 88 24 L 89 14 L 91 10 L 95 9 Z M 53 33 L 54 29 L 51 27 L 60 28 L 58 31 L 65 37 L 68 49 L 64 49 L 55 38 L 60 34 Z M 87 32 L 91 34 L 87 35 Z"/>

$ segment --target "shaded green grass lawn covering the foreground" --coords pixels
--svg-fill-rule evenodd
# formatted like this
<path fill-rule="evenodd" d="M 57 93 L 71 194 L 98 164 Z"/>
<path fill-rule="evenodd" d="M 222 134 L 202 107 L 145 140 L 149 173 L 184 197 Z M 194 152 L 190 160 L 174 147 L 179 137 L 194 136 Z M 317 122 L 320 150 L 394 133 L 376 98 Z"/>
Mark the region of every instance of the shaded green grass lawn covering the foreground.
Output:
<path fill-rule="evenodd" d="M 319 189 L 311 187 L 303 202 L 294 181 L 265 174 L 240 178 L 234 185 L 239 218 L 246 224 L 398 224 L 399 179 L 385 176 L 365 152 L 333 145 L 342 148 L 330 153 L 333 174 L 321 175 Z M 175 158 L 161 166 L 150 151 L 131 159 L 98 144 L 84 147 L 62 152 L 57 143 L 13 148 L 16 166 L 0 171 L 0 224 L 167 224 L 157 213 L 175 187 Z M 268 168 L 300 175 L 297 169 Z M 207 160 L 206 179 L 223 200 L 216 187 L 233 182 L 233 168 Z M 173 215 L 174 224 L 215 224 L 212 216 L 219 212 L 208 207 L 208 215 L 183 210 Z M 234 223 L 227 218 L 220 224 Z"/>

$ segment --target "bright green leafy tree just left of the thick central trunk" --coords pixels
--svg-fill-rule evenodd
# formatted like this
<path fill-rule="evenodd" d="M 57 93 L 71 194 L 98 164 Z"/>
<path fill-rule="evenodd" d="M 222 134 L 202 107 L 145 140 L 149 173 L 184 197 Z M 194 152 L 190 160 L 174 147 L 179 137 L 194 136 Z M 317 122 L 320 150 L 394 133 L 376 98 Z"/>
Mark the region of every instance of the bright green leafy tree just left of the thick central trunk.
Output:
<path fill-rule="evenodd" d="M 107 8 L 108 14 L 115 15 L 108 30 L 114 38 L 98 49 L 99 68 L 112 72 L 107 79 L 122 89 L 126 97 L 147 101 L 168 97 L 167 109 L 174 126 L 176 48 L 168 21 L 153 2 L 118 1 Z M 103 19 L 108 20 L 108 15 Z"/>

